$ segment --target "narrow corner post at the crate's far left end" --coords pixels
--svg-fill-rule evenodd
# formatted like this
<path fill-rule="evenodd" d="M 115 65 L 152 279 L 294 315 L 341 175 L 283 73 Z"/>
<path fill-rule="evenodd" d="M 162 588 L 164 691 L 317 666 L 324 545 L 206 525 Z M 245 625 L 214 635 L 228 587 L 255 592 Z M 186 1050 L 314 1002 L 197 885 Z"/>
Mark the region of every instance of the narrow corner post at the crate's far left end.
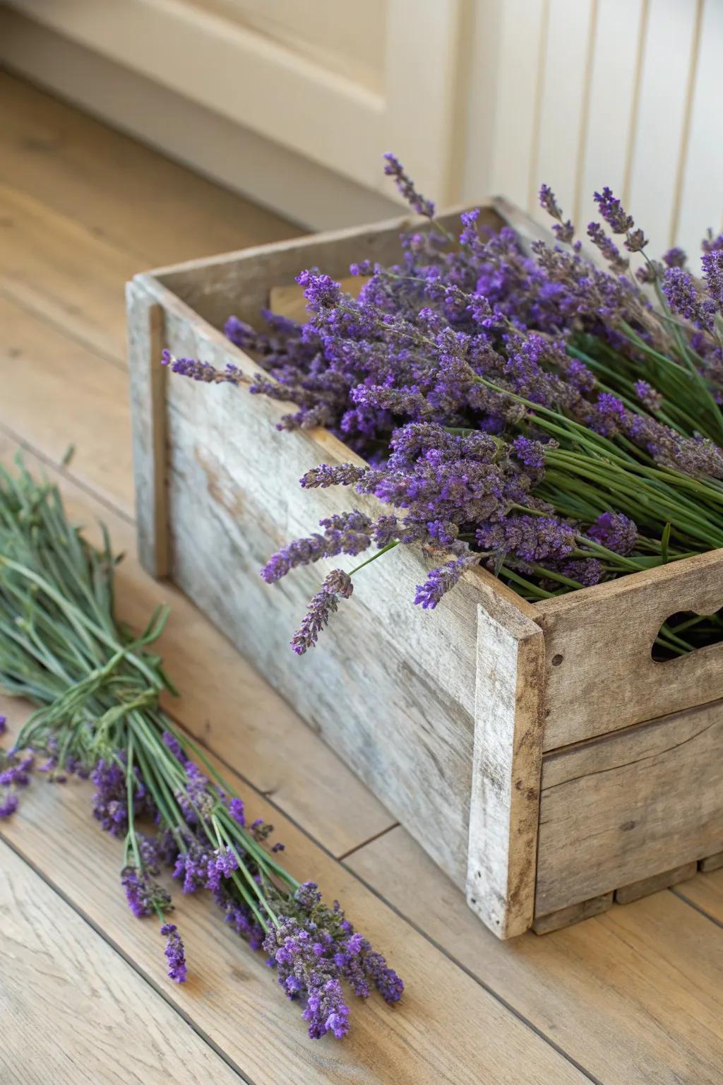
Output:
<path fill-rule="evenodd" d="M 160 362 L 165 319 L 149 279 L 139 275 L 126 284 L 128 366 L 138 552 L 146 572 L 162 578 L 169 572 L 166 369 Z"/>

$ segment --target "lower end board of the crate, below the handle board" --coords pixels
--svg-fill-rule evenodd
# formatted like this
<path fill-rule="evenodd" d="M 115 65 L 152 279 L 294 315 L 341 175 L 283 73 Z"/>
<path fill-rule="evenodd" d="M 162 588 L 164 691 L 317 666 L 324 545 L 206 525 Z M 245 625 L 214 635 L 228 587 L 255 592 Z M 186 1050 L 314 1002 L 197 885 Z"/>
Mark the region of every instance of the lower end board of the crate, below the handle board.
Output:
<path fill-rule="evenodd" d="M 719 701 L 543 757 L 535 914 L 719 852 L 722 739 Z"/>

